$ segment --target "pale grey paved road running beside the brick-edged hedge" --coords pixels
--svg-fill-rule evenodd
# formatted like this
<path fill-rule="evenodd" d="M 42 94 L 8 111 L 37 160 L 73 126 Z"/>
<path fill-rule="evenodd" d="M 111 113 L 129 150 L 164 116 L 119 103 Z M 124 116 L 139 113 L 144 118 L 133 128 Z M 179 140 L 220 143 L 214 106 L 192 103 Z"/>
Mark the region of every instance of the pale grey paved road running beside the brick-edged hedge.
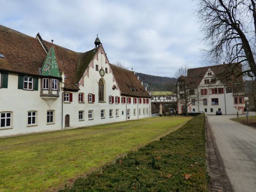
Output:
<path fill-rule="evenodd" d="M 207 116 L 235 192 L 256 192 L 256 129 L 229 118 Z"/>

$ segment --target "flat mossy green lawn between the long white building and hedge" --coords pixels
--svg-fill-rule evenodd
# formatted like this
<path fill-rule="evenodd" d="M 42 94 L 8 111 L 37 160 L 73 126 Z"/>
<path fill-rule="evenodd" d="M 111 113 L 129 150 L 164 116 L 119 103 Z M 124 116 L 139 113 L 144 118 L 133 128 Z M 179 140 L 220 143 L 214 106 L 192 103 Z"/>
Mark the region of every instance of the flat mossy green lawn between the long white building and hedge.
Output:
<path fill-rule="evenodd" d="M 191 117 L 145 118 L 0 138 L 0 191 L 52 191 Z"/>

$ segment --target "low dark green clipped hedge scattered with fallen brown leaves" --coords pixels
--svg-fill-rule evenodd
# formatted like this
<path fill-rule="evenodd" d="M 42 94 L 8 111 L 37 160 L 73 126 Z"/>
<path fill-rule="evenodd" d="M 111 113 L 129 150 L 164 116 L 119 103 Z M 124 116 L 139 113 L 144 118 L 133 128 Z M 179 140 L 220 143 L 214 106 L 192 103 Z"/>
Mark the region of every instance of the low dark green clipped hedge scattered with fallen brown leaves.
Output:
<path fill-rule="evenodd" d="M 207 191 L 204 115 L 60 192 Z M 188 179 L 185 176 L 190 177 Z"/>

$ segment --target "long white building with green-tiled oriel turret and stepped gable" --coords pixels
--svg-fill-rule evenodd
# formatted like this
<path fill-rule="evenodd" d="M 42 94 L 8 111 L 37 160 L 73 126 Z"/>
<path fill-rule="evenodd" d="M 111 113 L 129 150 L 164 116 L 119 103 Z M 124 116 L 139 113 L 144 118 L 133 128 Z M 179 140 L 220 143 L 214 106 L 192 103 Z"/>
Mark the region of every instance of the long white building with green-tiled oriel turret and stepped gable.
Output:
<path fill-rule="evenodd" d="M 133 71 L 109 63 L 99 38 L 78 53 L 0 25 L 0 136 L 150 117 Z"/>

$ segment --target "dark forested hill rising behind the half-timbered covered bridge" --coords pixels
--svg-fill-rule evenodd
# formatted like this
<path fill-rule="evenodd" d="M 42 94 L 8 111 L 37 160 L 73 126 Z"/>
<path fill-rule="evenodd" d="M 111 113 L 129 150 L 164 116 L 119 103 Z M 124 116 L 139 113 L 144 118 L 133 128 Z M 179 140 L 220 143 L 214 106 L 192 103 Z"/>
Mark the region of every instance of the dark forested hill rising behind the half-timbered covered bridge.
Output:
<path fill-rule="evenodd" d="M 147 91 L 175 91 L 176 89 L 176 78 L 147 75 L 142 73 L 136 73 L 136 75 L 139 76 L 141 82 L 148 84 L 149 87 L 147 88 Z"/>

